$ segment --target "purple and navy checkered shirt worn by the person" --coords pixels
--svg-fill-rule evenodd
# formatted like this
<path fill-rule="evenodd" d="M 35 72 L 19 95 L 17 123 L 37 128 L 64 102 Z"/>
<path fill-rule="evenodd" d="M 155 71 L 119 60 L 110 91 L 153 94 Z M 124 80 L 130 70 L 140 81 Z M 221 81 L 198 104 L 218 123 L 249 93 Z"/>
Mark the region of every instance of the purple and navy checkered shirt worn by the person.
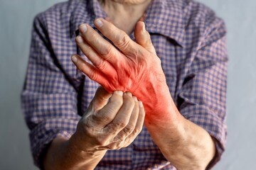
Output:
<path fill-rule="evenodd" d="M 70 60 L 73 54 L 87 60 L 75 44 L 76 30 L 81 23 L 93 27 L 98 17 L 107 14 L 97 0 L 70 0 L 34 20 L 21 98 L 37 166 L 56 136 L 73 135 L 99 86 Z M 191 0 L 151 1 L 145 24 L 178 110 L 215 138 L 217 162 L 226 140 L 225 24 L 209 8 Z M 109 150 L 96 169 L 175 168 L 144 128 L 129 147 Z"/>

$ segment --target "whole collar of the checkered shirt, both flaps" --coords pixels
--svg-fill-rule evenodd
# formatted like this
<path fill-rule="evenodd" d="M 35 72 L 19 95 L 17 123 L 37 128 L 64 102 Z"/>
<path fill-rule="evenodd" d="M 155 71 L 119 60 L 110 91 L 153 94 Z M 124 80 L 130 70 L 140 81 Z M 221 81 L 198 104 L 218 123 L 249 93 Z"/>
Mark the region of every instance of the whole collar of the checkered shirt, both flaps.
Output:
<path fill-rule="evenodd" d="M 97 0 L 75 0 L 73 3 L 73 13 L 70 16 L 71 38 L 75 37 L 80 24 L 88 23 L 95 28 L 95 18 L 107 17 Z M 153 0 L 146 10 L 144 22 L 149 33 L 164 35 L 183 47 L 185 23 L 180 0 Z"/>

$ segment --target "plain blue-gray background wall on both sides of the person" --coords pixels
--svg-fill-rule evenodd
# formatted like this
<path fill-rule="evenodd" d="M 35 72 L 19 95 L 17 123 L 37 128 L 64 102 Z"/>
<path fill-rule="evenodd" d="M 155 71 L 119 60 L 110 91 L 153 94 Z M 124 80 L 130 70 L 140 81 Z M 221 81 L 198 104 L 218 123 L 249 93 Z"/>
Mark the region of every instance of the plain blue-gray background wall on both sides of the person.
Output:
<path fill-rule="evenodd" d="M 21 114 L 31 26 L 61 0 L 0 0 L 0 169 L 36 169 Z M 228 26 L 228 144 L 215 169 L 255 169 L 256 2 L 201 0 Z"/>

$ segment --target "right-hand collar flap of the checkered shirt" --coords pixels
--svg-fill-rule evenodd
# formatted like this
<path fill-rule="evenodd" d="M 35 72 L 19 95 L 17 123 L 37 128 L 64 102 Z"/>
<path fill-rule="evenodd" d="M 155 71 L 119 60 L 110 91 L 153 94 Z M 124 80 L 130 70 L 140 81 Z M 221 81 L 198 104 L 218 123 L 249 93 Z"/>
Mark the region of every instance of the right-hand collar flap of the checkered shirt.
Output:
<path fill-rule="evenodd" d="M 183 47 L 185 23 L 180 0 L 153 0 L 144 22 L 149 33 L 164 35 Z"/>

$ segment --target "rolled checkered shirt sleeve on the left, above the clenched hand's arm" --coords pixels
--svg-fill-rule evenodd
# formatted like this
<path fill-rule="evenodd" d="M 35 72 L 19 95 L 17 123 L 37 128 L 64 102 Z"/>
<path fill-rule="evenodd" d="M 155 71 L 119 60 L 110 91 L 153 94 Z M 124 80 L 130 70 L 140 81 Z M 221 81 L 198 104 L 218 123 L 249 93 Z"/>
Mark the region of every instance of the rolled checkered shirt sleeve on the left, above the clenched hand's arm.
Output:
<path fill-rule="evenodd" d="M 33 22 L 31 52 L 21 94 L 34 163 L 40 168 L 50 142 L 59 135 L 69 138 L 80 120 L 77 90 L 55 59 L 45 23 L 41 15 Z"/>

